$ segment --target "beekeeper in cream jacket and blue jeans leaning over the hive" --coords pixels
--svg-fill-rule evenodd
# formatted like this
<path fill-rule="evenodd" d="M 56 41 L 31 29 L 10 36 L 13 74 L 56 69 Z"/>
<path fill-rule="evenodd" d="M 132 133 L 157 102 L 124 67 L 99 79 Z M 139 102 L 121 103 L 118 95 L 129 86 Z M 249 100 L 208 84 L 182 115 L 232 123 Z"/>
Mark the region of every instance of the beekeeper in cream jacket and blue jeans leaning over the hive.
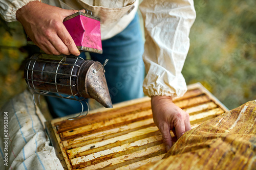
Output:
<path fill-rule="evenodd" d="M 151 96 L 154 122 L 169 150 L 170 130 L 180 138 L 191 129 L 189 115 L 172 101 L 186 92 L 181 70 L 196 17 L 194 2 L 144 0 L 139 8 L 144 19 L 144 45 L 138 6 L 139 0 L 1 0 L 0 12 L 6 21 L 22 23 L 28 37 L 45 53 L 78 56 L 80 52 L 62 21 L 77 10 L 92 11 L 101 21 L 103 54 L 91 57 L 101 63 L 109 59 L 105 74 L 112 102 L 140 98 L 143 92 Z M 57 116 L 76 111 L 71 102 L 48 98 L 49 108 Z"/>

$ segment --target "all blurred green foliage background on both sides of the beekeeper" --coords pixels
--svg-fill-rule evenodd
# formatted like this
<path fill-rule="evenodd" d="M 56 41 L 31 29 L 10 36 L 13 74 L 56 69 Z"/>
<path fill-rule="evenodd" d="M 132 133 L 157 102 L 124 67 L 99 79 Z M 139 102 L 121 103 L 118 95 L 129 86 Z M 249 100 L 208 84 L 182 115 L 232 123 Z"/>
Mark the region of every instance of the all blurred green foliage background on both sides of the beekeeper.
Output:
<path fill-rule="evenodd" d="M 229 109 L 256 99 L 256 2 L 195 1 L 197 19 L 183 67 L 187 84 L 200 82 Z M 18 22 L 0 22 L 0 107 L 26 88 Z"/>

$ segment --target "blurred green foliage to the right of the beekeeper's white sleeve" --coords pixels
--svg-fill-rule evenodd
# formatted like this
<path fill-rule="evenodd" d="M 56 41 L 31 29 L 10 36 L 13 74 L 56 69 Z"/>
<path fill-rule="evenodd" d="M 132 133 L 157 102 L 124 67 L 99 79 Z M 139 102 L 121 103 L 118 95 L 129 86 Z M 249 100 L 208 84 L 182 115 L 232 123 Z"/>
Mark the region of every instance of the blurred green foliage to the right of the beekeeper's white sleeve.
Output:
<path fill-rule="evenodd" d="M 195 1 L 197 19 L 183 67 L 229 109 L 256 99 L 256 1 Z"/>

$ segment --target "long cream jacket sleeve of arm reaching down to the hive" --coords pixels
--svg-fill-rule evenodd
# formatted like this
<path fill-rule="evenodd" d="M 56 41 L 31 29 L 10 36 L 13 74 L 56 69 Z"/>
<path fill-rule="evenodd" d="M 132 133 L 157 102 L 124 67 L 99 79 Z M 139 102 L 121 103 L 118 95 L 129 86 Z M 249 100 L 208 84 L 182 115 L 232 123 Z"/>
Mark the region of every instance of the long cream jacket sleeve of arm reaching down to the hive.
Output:
<path fill-rule="evenodd" d="M 196 12 L 193 0 L 144 0 L 140 11 L 145 26 L 143 60 L 146 77 L 143 91 L 148 96 L 174 99 L 187 88 L 181 74 L 189 49 L 189 31 Z"/>

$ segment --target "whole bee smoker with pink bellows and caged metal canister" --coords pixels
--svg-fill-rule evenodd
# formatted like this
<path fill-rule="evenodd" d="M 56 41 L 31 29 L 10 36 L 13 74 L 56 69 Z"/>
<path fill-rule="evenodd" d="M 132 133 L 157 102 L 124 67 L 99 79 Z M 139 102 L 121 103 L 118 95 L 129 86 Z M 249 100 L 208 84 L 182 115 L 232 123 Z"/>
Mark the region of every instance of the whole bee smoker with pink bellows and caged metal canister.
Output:
<path fill-rule="evenodd" d="M 84 23 L 91 23 L 89 26 L 92 28 L 84 27 Z M 97 18 L 77 12 L 65 18 L 63 24 L 80 51 L 102 53 L 100 22 Z M 112 107 L 104 75 L 104 65 L 107 62 L 108 59 L 101 65 L 100 62 L 83 60 L 73 55 L 38 53 L 27 61 L 24 76 L 34 94 L 76 100 L 80 103 L 92 98 L 104 107 Z M 69 120 L 81 118 L 81 113 Z"/>

